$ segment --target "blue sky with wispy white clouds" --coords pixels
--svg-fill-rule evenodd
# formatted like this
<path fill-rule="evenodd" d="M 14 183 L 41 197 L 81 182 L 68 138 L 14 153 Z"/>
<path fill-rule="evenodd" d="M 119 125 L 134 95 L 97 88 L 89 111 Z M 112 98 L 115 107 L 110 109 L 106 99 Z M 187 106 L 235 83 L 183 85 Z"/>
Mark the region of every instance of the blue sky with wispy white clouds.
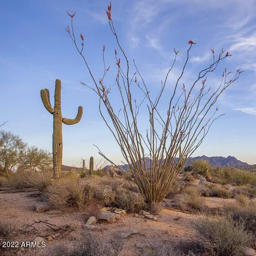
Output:
<path fill-rule="evenodd" d="M 80 158 L 100 158 L 97 145 L 116 163 L 123 159 L 98 112 L 98 98 L 80 81 L 92 84 L 65 27 L 70 24 L 66 10 L 76 12 L 77 37 L 84 35 L 84 54 L 96 78 L 102 76 L 102 47 L 106 47 L 106 64 L 115 70 L 116 47 L 106 17 L 108 1 L 78 0 L 9 0 L 1 3 L 0 21 L 0 121 L 3 127 L 19 134 L 29 145 L 51 150 L 52 115 L 41 102 L 40 90 L 48 88 L 54 104 L 55 79 L 62 80 L 62 113 L 74 118 L 79 105 L 83 117 L 77 125 L 63 125 L 63 163 L 76 165 Z M 227 49 L 232 56 L 208 77 L 216 86 L 224 67 L 241 68 L 244 73 L 219 98 L 220 113 L 208 137 L 194 156 L 227 157 L 256 163 L 256 3 L 254 0 L 123 0 L 112 1 L 112 19 L 120 42 L 131 59 L 135 59 L 151 90 L 161 86 L 173 48 L 179 49 L 175 69 L 169 79 L 168 92 L 180 72 L 187 42 L 193 40 L 184 82 L 211 62 L 210 48 Z M 115 77 L 108 78 L 111 83 Z M 114 80 L 113 80 L 114 81 Z M 168 94 L 166 94 L 168 95 Z M 115 97 L 113 94 L 113 104 Z M 144 113 L 142 113 L 143 115 Z M 146 115 L 146 113 L 145 113 Z M 147 116 L 145 116 L 147 121 Z"/>

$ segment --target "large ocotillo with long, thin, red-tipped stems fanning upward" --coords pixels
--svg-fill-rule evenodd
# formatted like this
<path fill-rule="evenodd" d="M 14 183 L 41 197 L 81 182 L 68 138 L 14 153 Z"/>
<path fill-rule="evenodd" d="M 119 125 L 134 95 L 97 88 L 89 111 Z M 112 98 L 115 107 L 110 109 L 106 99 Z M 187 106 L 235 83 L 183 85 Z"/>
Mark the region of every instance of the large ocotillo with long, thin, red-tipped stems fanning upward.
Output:
<path fill-rule="evenodd" d="M 161 81 L 158 93 L 152 95 L 136 62 L 134 60 L 130 62 L 122 48 L 112 20 L 111 9 L 110 3 L 106 15 L 118 49 L 118 51 L 115 50 L 116 73 L 111 86 L 107 85 L 105 79 L 109 73 L 109 67 L 105 64 L 105 46 L 102 54 L 104 71 L 101 78 L 97 79 L 84 54 L 86 47 L 84 35 L 80 34 L 78 42 L 74 33 L 75 13 L 73 15 L 67 13 L 71 23 L 70 27 L 66 27 L 66 31 L 93 81 L 93 86 L 83 82 L 81 84 L 98 95 L 99 113 L 118 143 L 141 193 L 148 203 L 154 204 L 163 200 L 187 159 L 207 136 L 212 123 L 223 115 L 218 114 L 216 102 L 223 91 L 239 78 L 241 70 L 236 70 L 233 77 L 230 77 L 232 72 L 228 72 L 225 68 L 221 72 L 219 84 L 214 88 L 209 87 L 207 76 L 216 70 L 219 63 L 232 56 L 224 49 L 219 54 L 215 54 L 214 49 L 211 49 L 212 61 L 209 65 L 198 72 L 194 81 L 184 84 L 185 69 L 189 63 L 190 52 L 195 45 L 195 42 L 190 40 L 184 65 L 180 69 L 176 82 L 172 85 L 173 91 L 163 112 L 161 109 L 163 98 L 166 98 L 168 78 L 173 71 L 179 51 L 174 49 L 173 63 Z M 114 90 L 118 92 L 121 109 L 114 107 L 117 101 L 116 95 L 113 97 L 113 94 L 110 94 Z M 138 100 L 138 91 L 142 95 L 140 100 Z M 149 120 L 145 131 L 141 130 L 140 111 L 143 107 L 147 109 Z M 99 154 L 108 159 L 101 150 Z M 150 166 L 146 165 L 147 157 L 151 159 Z"/>

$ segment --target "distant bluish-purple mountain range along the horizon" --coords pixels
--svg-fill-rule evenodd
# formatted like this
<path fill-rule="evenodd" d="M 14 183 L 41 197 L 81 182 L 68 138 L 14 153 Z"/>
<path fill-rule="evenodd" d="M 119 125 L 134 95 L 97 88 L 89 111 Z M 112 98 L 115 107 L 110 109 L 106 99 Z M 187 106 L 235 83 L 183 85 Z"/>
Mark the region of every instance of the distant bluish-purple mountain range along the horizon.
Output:
<path fill-rule="evenodd" d="M 146 166 L 147 168 L 150 168 L 150 163 L 152 160 L 150 158 L 146 158 Z M 205 155 L 202 155 L 201 157 L 190 157 L 189 160 L 186 163 L 186 166 L 189 166 L 191 164 L 191 161 L 195 160 L 206 160 L 208 161 L 211 166 L 216 167 L 216 166 L 232 166 L 232 167 L 237 167 L 240 169 L 246 169 L 246 170 L 253 170 L 256 169 L 256 165 L 249 165 L 246 162 L 242 162 L 235 157 L 231 157 L 230 155 L 228 157 L 207 157 Z M 123 170 L 130 169 L 129 165 L 118 165 L 119 168 Z M 79 167 L 72 167 L 72 166 L 67 166 L 67 165 L 62 165 L 62 170 L 81 170 L 82 168 Z M 105 169 L 109 169 L 109 165 L 105 166 Z"/>

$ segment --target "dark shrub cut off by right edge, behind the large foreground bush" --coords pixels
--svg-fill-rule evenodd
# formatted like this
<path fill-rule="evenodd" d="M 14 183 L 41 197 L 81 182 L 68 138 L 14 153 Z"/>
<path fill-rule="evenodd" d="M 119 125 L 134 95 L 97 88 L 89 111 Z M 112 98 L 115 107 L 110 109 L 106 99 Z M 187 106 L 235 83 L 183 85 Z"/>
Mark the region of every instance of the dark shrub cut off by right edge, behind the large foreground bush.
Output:
<path fill-rule="evenodd" d="M 243 222 L 248 231 L 256 232 L 256 203 L 250 202 L 248 205 L 229 204 L 225 205 L 224 211 L 234 222 Z M 254 237 L 255 239 L 256 237 Z"/>

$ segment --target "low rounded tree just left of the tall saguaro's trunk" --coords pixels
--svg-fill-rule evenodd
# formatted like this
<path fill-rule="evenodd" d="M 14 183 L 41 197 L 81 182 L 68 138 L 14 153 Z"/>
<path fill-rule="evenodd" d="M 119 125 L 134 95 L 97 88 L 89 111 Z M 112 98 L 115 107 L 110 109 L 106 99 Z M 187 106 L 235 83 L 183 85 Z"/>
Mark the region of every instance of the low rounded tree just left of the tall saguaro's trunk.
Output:
<path fill-rule="evenodd" d="M 45 170 L 52 166 L 52 154 L 36 146 L 27 147 L 18 170 Z"/>

